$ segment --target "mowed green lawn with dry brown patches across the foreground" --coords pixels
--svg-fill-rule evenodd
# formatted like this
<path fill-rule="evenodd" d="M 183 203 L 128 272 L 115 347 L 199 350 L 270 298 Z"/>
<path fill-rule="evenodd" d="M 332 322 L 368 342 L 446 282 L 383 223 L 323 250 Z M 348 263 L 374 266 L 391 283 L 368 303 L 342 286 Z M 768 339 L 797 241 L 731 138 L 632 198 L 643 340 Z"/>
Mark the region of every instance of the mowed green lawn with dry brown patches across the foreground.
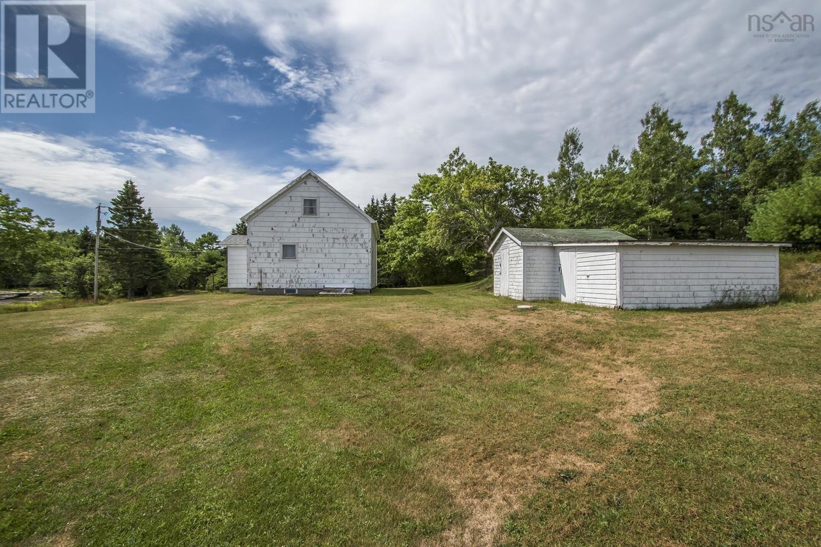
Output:
<path fill-rule="evenodd" d="M 821 541 L 821 301 L 476 285 L 0 316 L 0 543 Z"/>

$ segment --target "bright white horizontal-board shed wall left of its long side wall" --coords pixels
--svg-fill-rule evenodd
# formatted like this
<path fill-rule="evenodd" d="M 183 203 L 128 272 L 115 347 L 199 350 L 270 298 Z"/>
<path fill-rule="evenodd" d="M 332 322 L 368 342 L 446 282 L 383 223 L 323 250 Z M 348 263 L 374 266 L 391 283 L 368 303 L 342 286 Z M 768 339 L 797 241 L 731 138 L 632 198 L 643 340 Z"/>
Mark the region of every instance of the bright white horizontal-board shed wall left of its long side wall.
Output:
<path fill-rule="evenodd" d="M 576 251 L 576 302 L 615 308 L 618 255 L 615 247 L 579 247 Z"/>

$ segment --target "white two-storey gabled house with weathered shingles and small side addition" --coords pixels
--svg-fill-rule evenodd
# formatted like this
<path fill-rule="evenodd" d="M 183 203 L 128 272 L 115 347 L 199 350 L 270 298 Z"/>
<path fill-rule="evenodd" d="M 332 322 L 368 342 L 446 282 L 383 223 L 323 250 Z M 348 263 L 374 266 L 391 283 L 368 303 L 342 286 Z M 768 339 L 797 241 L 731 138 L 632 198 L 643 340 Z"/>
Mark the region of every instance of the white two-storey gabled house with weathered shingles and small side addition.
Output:
<path fill-rule="evenodd" d="M 314 171 L 291 180 L 242 220 L 248 235 L 221 243 L 231 292 L 369 292 L 376 286 L 376 221 Z"/>

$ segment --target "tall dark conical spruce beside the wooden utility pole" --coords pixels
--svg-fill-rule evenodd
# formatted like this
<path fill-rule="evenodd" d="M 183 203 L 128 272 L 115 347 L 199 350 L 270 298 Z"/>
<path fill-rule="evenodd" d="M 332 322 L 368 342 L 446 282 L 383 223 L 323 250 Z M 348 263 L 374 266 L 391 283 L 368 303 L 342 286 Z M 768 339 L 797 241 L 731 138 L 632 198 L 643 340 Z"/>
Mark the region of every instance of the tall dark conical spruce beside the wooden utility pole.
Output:
<path fill-rule="evenodd" d="M 122 285 L 128 299 L 135 294 L 151 296 L 163 289 L 168 276 L 165 259 L 156 250 L 161 243 L 157 223 L 151 210 L 143 207 L 133 180 L 126 180 L 111 203 L 104 256 L 112 278 Z"/>

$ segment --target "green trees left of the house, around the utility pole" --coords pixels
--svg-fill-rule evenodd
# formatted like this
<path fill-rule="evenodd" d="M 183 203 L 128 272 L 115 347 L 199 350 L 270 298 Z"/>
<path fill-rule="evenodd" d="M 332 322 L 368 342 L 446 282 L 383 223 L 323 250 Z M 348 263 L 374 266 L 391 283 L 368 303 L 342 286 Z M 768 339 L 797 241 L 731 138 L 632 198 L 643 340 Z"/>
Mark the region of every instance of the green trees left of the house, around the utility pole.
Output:
<path fill-rule="evenodd" d="M 225 251 L 206 232 L 189 241 L 179 226 L 159 227 L 132 180 L 103 207 L 99 292 L 103 296 L 154 296 L 176 289 L 226 285 Z M 54 221 L 0 189 L 0 286 L 58 289 L 88 299 L 94 286 L 95 234 L 54 230 Z"/>

